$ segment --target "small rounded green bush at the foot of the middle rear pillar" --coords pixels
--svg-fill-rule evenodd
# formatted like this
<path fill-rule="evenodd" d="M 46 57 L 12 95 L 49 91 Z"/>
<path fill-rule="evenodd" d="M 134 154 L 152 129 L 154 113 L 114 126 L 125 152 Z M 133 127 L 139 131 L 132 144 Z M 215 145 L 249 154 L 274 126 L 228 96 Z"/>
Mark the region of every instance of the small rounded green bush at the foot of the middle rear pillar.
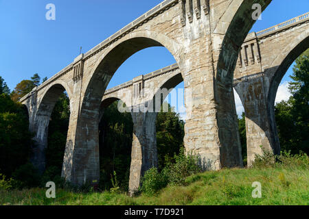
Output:
<path fill-rule="evenodd" d="M 153 196 L 167 184 L 167 179 L 158 172 L 157 168 L 151 168 L 145 172 L 142 179 L 141 192 L 147 196 Z"/>

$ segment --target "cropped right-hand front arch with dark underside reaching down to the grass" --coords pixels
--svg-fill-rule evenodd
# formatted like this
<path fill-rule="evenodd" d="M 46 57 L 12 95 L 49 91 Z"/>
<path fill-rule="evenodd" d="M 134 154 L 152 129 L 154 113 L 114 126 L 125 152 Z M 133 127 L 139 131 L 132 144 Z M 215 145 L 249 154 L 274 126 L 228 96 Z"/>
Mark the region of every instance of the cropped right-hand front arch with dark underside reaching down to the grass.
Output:
<path fill-rule="evenodd" d="M 214 1 L 211 1 L 215 4 Z M 220 140 L 220 167 L 242 166 L 238 116 L 233 95 L 233 72 L 244 39 L 255 21 L 252 6 L 263 11 L 271 0 L 233 0 L 213 28 L 214 105 Z M 210 12 L 214 15 L 214 11 Z M 215 163 L 214 166 L 217 164 Z"/>

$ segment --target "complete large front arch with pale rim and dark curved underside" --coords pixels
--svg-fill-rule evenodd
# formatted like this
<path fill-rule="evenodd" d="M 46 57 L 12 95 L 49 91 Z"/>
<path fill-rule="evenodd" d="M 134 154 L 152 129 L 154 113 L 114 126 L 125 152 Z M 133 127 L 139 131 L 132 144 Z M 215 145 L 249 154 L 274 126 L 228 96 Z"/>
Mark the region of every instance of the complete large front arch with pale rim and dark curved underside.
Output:
<path fill-rule="evenodd" d="M 153 31 L 138 31 L 119 40 L 98 60 L 84 82 L 84 96 L 80 105 L 80 116 L 76 127 L 73 162 L 65 175 L 71 181 L 81 184 L 84 181 L 98 182 L 100 175 L 98 156 L 98 118 L 102 97 L 113 74 L 128 57 L 148 47 L 165 47 L 177 60 L 178 45 L 163 34 Z M 134 120 L 134 119 L 133 119 Z M 69 162 L 69 161 L 68 161 Z M 71 172 L 71 173 L 70 173 Z"/>

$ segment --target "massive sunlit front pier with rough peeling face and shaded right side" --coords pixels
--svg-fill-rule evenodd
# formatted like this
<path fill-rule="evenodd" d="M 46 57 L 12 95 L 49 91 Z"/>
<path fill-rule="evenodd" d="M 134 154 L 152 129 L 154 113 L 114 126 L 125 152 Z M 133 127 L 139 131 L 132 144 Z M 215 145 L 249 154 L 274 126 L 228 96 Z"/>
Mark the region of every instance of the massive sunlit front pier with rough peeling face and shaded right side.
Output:
<path fill-rule="evenodd" d="M 211 50 L 207 38 L 192 44 L 180 63 L 185 90 L 191 90 L 185 95 L 185 149 L 200 156 L 204 170 L 242 166 L 233 88 L 216 79 L 216 62 L 207 49 Z"/>

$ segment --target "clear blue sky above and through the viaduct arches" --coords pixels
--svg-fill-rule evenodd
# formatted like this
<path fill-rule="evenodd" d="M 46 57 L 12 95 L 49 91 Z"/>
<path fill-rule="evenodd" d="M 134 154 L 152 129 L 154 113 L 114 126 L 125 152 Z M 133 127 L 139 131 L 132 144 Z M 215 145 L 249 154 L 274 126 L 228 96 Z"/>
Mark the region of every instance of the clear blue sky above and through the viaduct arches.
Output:
<path fill-rule="evenodd" d="M 79 55 L 144 14 L 161 0 L 0 0 L 0 76 L 12 90 L 34 73 L 52 77 Z M 56 21 L 47 21 L 47 3 Z M 273 0 L 251 31 L 260 31 L 309 10 L 308 0 Z M 117 70 L 108 88 L 174 64 L 165 48 L 139 51 Z M 282 83 L 288 80 L 288 71 Z M 179 87 L 183 87 L 181 84 Z"/>

